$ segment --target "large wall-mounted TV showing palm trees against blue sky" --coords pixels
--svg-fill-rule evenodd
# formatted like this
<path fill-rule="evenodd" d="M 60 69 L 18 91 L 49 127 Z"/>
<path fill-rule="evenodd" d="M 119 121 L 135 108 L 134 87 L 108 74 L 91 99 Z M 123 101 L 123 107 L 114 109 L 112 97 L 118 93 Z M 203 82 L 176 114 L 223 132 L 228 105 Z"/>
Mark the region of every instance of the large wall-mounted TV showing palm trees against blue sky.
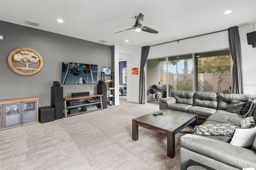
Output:
<path fill-rule="evenodd" d="M 62 84 L 97 83 L 98 65 L 62 62 Z"/>

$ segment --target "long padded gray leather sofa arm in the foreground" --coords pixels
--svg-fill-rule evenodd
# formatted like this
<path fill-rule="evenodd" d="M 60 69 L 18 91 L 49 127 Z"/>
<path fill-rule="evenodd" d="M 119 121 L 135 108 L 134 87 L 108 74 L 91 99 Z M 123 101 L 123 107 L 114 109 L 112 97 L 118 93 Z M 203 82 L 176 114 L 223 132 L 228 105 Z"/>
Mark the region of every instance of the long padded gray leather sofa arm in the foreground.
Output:
<path fill-rule="evenodd" d="M 203 135 L 185 134 L 180 137 L 180 146 L 238 169 L 256 168 L 255 151 Z"/>

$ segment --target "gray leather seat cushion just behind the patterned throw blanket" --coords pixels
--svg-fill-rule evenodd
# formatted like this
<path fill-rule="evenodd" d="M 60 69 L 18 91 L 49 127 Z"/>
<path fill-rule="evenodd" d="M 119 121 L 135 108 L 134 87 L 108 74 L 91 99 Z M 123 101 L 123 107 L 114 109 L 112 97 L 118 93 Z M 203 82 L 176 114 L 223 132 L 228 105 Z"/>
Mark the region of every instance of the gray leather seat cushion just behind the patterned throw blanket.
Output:
<path fill-rule="evenodd" d="M 240 127 L 240 121 L 244 118 L 241 115 L 230 113 L 225 110 L 217 110 L 216 113 L 210 115 L 206 121 L 214 121 L 220 123 L 231 123 Z"/>

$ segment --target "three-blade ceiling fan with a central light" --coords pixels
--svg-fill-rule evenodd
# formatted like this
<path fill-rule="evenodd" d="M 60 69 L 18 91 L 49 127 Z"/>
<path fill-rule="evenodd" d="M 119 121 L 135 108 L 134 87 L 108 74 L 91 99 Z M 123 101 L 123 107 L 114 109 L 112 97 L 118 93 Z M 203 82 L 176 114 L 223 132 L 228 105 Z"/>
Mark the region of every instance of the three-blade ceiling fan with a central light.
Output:
<path fill-rule="evenodd" d="M 140 13 L 138 16 L 135 16 L 135 19 L 136 19 L 136 22 L 135 22 L 135 25 L 132 28 L 122 30 L 122 31 L 119 31 L 119 32 L 124 32 L 124 31 L 127 31 L 127 30 L 134 29 L 136 32 L 145 31 L 145 32 L 154 33 L 154 34 L 158 33 L 158 31 L 153 30 L 152 28 L 142 26 L 143 19 L 144 19 L 143 14 Z M 116 32 L 116 33 L 118 33 L 118 32 Z"/>

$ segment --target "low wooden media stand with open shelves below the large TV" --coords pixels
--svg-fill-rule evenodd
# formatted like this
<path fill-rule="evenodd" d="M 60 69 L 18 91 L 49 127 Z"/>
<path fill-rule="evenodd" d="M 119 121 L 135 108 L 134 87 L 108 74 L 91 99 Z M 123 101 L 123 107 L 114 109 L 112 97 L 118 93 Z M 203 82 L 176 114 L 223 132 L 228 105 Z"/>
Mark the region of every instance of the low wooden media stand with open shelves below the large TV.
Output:
<path fill-rule="evenodd" d="M 102 94 L 93 94 L 93 95 L 88 95 L 88 96 L 81 96 L 81 97 L 64 97 L 63 101 L 64 101 L 64 113 L 65 113 L 65 118 L 70 117 L 70 116 L 74 116 L 74 115 L 80 115 L 83 113 L 88 113 L 88 112 L 92 112 L 92 111 L 98 111 L 98 110 L 102 110 Z M 99 99 L 99 101 L 96 102 L 91 102 L 88 103 L 85 101 L 85 99 Z M 73 101 L 73 100 L 80 100 L 82 104 L 80 105 L 73 105 L 73 106 L 67 106 L 67 101 Z M 88 106 L 88 105 L 96 105 L 97 109 L 93 109 L 93 110 L 82 110 L 81 108 L 83 106 Z M 78 113 L 70 113 L 70 109 L 74 109 L 74 108 L 78 108 L 79 112 Z"/>

